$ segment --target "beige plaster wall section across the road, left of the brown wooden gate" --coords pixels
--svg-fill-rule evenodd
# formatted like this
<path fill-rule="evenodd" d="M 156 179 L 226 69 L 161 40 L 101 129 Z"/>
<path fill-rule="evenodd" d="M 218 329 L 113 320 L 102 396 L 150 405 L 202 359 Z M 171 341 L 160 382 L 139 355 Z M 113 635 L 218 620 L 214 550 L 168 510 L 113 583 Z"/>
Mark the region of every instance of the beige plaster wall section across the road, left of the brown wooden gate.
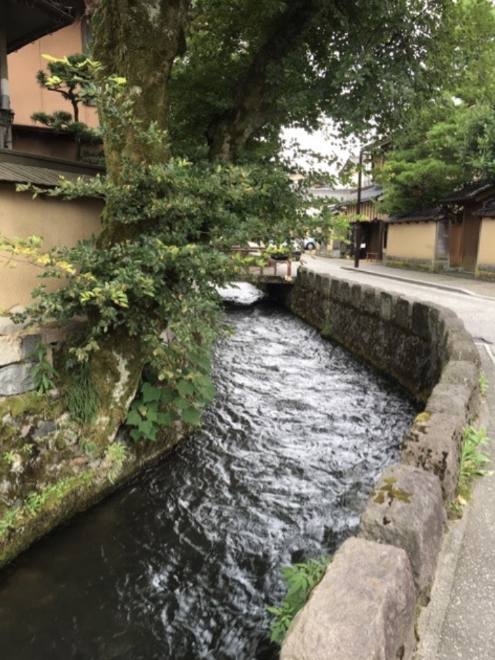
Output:
<path fill-rule="evenodd" d="M 404 222 L 389 225 L 386 255 L 389 259 L 435 259 L 435 222 Z"/>

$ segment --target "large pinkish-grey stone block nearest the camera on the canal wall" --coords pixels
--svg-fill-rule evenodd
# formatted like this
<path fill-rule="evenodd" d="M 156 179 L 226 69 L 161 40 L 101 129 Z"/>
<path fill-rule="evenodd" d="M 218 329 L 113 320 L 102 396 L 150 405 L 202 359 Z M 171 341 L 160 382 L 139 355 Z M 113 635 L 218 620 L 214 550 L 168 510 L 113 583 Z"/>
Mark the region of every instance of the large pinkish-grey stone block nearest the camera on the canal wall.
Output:
<path fill-rule="evenodd" d="M 281 660 L 410 660 L 416 598 L 404 550 L 350 538 L 298 612 Z"/>

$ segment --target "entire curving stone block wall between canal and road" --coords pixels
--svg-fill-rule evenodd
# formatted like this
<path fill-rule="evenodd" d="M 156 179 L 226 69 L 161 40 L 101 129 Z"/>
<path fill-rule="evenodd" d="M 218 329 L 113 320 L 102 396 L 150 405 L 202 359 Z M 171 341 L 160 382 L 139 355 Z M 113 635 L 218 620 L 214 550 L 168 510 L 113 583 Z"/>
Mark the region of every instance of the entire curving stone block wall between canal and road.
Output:
<path fill-rule="evenodd" d="M 370 493 L 347 539 L 295 617 L 281 660 L 410 660 L 456 495 L 462 431 L 477 417 L 480 358 L 445 308 L 301 269 L 287 304 L 349 351 L 404 385 L 425 410 L 400 463 Z"/>

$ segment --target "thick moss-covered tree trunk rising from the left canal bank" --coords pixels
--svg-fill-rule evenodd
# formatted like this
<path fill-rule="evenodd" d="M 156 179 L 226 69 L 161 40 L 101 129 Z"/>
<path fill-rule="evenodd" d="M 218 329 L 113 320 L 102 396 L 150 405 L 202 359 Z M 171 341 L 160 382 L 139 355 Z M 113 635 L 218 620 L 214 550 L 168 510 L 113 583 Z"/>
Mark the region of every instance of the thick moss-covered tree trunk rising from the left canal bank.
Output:
<path fill-rule="evenodd" d="M 86 4 L 93 18 L 95 59 L 102 62 L 107 75 L 127 79 L 127 90 L 134 99 L 134 114 L 144 128 L 155 122 L 166 130 L 168 80 L 174 59 L 183 47 L 183 22 L 189 0 L 92 0 Z M 125 146 L 128 157 L 133 146 L 132 135 Z M 106 139 L 104 149 L 107 175 L 117 184 L 123 145 Z M 135 158 L 137 162 L 151 163 L 166 160 L 169 152 L 167 148 L 162 153 L 150 149 L 146 154 L 141 144 Z M 105 249 L 136 238 L 146 228 L 117 223 L 111 205 L 106 205 L 97 246 Z M 139 385 L 143 368 L 141 338 L 127 336 L 125 331 L 109 331 L 98 343 L 99 350 L 91 362 L 101 402 L 95 432 L 111 441 L 125 420 Z"/>

